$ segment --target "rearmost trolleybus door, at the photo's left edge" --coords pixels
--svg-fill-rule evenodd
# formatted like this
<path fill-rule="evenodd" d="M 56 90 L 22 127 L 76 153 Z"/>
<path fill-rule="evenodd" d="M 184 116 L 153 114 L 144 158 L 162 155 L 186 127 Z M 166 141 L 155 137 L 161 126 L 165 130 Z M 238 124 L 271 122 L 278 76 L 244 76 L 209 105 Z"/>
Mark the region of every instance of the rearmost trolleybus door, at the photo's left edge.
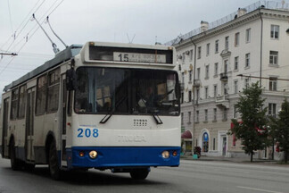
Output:
<path fill-rule="evenodd" d="M 9 97 L 4 99 L 3 104 L 3 133 L 2 133 L 2 154 L 8 157 L 8 110 L 9 110 Z"/>

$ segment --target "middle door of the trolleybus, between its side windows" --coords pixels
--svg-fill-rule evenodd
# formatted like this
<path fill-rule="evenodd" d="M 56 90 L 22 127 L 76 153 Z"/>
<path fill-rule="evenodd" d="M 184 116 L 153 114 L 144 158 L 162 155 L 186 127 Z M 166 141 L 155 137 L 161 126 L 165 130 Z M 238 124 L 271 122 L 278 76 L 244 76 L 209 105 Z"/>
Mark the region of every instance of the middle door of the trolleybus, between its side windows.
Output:
<path fill-rule="evenodd" d="M 34 148 L 33 148 L 34 102 L 35 102 L 35 88 L 29 88 L 27 90 L 27 116 L 26 116 L 26 130 L 25 130 L 26 159 L 29 161 L 34 161 Z"/>

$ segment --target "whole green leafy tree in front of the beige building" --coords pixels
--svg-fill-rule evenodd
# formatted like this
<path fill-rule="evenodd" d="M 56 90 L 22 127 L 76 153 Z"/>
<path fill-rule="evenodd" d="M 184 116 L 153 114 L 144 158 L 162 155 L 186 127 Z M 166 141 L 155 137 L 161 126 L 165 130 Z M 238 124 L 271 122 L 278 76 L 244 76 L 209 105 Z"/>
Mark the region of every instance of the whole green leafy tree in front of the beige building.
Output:
<path fill-rule="evenodd" d="M 233 119 L 234 128 L 228 131 L 228 134 L 235 134 L 235 138 L 241 140 L 244 153 L 251 155 L 251 162 L 254 151 L 267 147 L 268 141 L 265 127 L 268 122 L 267 108 L 263 108 L 266 99 L 262 99 L 261 94 L 259 82 L 243 89 L 243 95 L 235 105 L 236 111 L 241 113 L 242 122 Z"/>

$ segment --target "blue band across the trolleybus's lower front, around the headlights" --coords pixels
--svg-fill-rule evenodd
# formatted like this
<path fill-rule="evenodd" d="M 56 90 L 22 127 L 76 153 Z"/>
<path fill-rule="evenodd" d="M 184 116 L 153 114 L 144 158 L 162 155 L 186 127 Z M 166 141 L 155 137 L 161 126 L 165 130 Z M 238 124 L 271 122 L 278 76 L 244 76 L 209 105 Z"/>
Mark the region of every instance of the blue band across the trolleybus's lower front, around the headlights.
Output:
<path fill-rule="evenodd" d="M 91 159 L 88 155 L 92 150 L 98 153 L 95 159 Z M 85 155 L 80 157 L 79 151 L 85 152 Z M 162 158 L 163 151 L 169 151 L 168 159 Z M 173 151 L 177 151 L 178 155 L 173 156 Z M 180 147 L 72 147 L 66 152 L 69 169 L 178 166 Z"/>

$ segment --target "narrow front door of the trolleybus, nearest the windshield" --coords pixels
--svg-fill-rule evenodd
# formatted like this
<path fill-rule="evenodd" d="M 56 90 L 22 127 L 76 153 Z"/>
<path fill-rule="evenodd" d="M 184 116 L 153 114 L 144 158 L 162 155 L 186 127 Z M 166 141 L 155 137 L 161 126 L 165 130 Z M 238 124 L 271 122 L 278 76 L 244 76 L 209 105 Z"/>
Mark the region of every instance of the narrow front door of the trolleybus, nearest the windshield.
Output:
<path fill-rule="evenodd" d="M 67 89 L 66 89 L 66 79 L 65 74 L 62 74 L 62 95 L 61 95 L 61 104 L 62 104 L 62 165 L 66 165 L 66 116 L 67 116 Z"/>

